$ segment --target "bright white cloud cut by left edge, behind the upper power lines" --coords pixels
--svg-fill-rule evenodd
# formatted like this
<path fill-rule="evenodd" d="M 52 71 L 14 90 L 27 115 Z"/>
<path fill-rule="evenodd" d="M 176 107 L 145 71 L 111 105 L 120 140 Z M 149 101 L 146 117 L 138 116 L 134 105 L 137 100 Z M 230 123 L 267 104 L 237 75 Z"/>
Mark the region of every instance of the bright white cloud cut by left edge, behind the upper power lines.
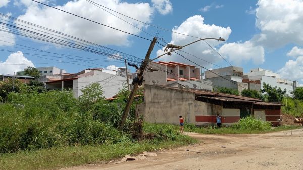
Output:
<path fill-rule="evenodd" d="M 12 13 L 7 13 L 6 15 L 11 16 Z M 8 23 L 8 21 L 6 21 L 7 18 L 0 16 L 0 19 L 3 19 L 1 20 L 2 22 Z M 9 30 L 6 25 L 2 25 L 2 27 Z M 5 31 L 0 31 L 0 46 L 14 46 L 15 38 L 16 36 L 14 34 Z"/>

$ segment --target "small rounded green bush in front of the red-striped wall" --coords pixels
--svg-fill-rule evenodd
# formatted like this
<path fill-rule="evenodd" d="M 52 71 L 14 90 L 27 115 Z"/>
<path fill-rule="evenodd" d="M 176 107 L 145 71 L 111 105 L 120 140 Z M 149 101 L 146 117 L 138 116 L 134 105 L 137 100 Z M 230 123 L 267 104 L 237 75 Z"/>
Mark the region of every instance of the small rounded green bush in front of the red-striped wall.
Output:
<path fill-rule="evenodd" d="M 269 130 L 272 127 L 270 122 L 262 121 L 260 119 L 256 119 L 253 116 L 241 118 L 239 123 L 236 123 L 231 126 L 233 129 L 240 130 Z"/>

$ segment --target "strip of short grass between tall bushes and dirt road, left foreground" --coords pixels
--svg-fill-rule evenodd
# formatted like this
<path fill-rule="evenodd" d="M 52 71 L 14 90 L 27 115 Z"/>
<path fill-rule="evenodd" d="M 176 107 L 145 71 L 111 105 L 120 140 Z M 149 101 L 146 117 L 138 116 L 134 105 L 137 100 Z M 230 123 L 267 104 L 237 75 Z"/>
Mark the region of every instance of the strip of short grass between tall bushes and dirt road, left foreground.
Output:
<path fill-rule="evenodd" d="M 135 155 L 154 149 L 168 149 L 195 143 L 196 140 L 186 135 L 178 135 L 174 141 L 141 141 L 126 142 L 112 145 L 74 146 L 41 149 L 37 151 L 21 151 L 17 153 L 0 154 L 0 169 L 59 169 L 77 165 L 100 163 L 121 158 L 125 155 Z"/>

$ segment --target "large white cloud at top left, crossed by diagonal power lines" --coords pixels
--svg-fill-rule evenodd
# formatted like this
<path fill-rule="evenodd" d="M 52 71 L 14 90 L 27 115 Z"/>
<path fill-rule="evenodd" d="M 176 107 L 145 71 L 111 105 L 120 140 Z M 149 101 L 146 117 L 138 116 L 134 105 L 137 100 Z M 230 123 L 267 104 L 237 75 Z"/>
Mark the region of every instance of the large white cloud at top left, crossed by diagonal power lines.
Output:
<path fill-rule="evenodd" d="M 31 23 L 41 25 L 65 34 L 69 34 L 81 39 L 85 39 L 101 45 L 129 45 L 130 35 L 81 19 L 73 15 L 66 14 L 53 8 L 40 6 L 27 0 L 22 0 L 27 6 L 24 15 L 18 17 Z M 123 11 L 125 15 L 136 18 L 143 22 L 151 22 L 153 8 L 148 3 L 127 3 L 118 0 L 100 0 L 100 4 L 106 4 L 107 7 Z M 129 25 L 119 18 L 103 11 L 85 0 L 69 1 L 63 6 L 56 6 L 59 9 L 77 14 L 90 20 L 121 29 L 123 31 L 140 34 L 141 30 Z M 146 28 L 142 23 L 134 20 L 128 20 L 131 24 L 140 29 Z"/>

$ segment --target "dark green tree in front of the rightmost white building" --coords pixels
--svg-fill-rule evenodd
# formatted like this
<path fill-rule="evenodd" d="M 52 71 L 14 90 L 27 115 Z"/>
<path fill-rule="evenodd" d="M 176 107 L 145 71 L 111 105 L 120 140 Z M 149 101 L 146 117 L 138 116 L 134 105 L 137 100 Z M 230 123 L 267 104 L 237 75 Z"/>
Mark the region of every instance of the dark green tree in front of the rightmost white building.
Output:
<path fill-rule="evenodd" d="M 269 102 L 281 102 L 284 94 L 286 93 L 286 89 L 281 90 L 280 87 L 272 87 L 269 84 L 263 83 L 263 89 L 261 89 L 261 93 L 267 93 L 267 99 Z"/>

